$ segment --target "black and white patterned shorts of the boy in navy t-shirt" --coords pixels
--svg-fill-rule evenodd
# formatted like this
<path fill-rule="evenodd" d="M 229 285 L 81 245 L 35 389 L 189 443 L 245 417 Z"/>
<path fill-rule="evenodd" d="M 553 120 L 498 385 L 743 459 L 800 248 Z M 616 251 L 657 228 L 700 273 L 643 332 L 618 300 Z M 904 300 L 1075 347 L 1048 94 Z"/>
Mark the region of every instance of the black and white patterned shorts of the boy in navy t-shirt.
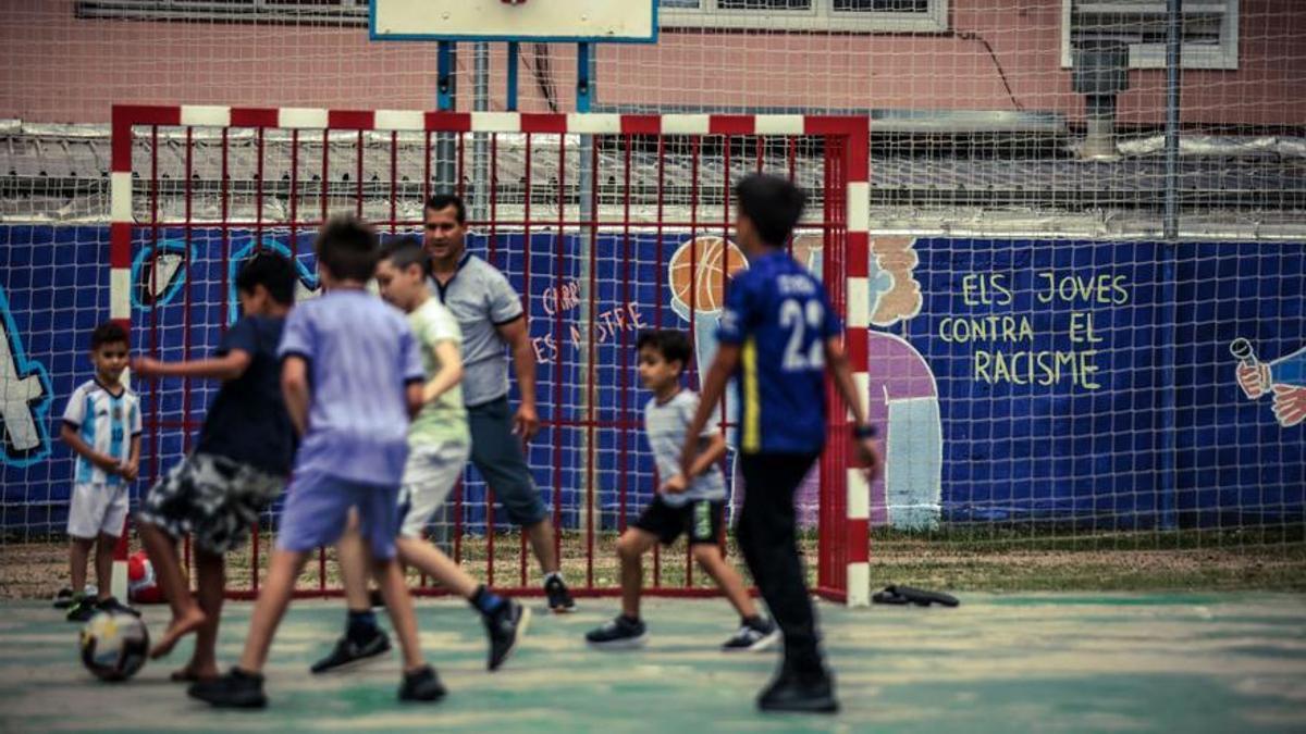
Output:
<path fill-rule="evenodd" d="M 150 488 L 136 515 L 174 538 L 191 533 L 195 545 L 214 555 L 246 542 L 286 479 L 222 456 L 193 453 Z"/>

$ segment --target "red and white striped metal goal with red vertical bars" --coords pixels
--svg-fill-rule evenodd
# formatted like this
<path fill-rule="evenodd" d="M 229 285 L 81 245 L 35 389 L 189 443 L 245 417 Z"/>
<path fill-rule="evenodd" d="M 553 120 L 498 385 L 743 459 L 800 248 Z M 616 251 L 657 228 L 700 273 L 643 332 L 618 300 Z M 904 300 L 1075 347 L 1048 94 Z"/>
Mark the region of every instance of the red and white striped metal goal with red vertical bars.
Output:
<path fill-rule="evenodd" d="M 230 281 L 242 252 L 272 247 L 295 257 L 307 293 L 312 232 L 329 213 L 355 212 L 383 236 L 419 234 L 422 201 L 453 188 L 471 204 L 470 248 L 524 294 L 543 424 L 528 458 L 562 530 L 556 545 L 568 580 L 580 594 L 613 594 L 609 541 L 656 486 L 640 436 L 646 394 L 633 376 L 635 336 L 644 327 L 708 333 L 700 320 L 714 304 L 704 302 L 718 300 L 742 264 L 721 244 L 731 238 L 730 191 L 739 176 L 788 175 L 811 195 L 795 243 L 845 316 L 866 394 L 867 145 L 862 116 L 116 106 L 111 317 L 131 329 L 137 351 L 202 355 L 234 317 Z M 713 242 L 720 260 L 705 261 Z M 688 379 L 697 387 L 696 368 Z M 136 387 L 145 413 L 144 492 L 189 451 L 213 387 Z M 868 487 L 850 464 L 848 414 L 832 387 L 827 393 L 829 441 L 802 508 L 807 537 L 818 538 L 815 589 L 865 605 Z M 729 405 L 722 409 L 729 417 Z M 469 473 L 449 502 L 443 542 L 491 585 L 535 592 L 525 538 L 502 511 L 495 516 L 492 491 Z M 232 597 L 256 593 L 273 528 L 269 513 L 255 529 L 248 571 L 232 564 Z M 125 560 L 125 541 L 120 550 Z M 654 556 L 650 593 L 712 593 L 695 582 L 687 554 L 666 555 Z M 675 579 L 663 582 L 663 572 Z M 424 584 L 418 592 L 439 593 Z M 340 593 L 325 552 L 316 582 L 300 593 Z"/>

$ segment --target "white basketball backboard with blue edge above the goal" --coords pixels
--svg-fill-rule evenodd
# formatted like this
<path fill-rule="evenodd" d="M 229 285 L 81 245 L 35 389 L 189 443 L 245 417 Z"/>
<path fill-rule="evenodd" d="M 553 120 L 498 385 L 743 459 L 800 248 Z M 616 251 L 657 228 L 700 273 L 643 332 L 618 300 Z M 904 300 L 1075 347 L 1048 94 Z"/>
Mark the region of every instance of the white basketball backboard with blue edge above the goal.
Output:
<path fill-rule="evenodd" d="M 374 40 L 657 40 L 657 0 L 371 0 Z"/>

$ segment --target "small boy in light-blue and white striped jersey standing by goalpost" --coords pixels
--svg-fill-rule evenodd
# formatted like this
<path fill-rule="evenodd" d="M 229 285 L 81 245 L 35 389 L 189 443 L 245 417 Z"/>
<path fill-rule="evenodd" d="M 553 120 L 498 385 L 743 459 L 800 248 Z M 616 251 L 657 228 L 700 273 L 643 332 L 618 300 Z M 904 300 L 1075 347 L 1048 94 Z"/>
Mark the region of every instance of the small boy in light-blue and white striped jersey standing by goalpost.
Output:
<path fill-rule="evenodd" d="M 86 622 L 98 611 L 136 614 L 110 593 L 114 547 L 127 521 L 128 485 L 136 481 L 141 461 L 141 401 L 121 381 L 127 350 L 127 329 L 112 321 L 95 327 L 90 333 L 95 377 L 73 391 L 64 410 L 60 438 L 77 455 L 68 508 L 68 562 L 74 590 L 69 622 Z M 91 546 L 95 599 L 82 594 Z"/>

